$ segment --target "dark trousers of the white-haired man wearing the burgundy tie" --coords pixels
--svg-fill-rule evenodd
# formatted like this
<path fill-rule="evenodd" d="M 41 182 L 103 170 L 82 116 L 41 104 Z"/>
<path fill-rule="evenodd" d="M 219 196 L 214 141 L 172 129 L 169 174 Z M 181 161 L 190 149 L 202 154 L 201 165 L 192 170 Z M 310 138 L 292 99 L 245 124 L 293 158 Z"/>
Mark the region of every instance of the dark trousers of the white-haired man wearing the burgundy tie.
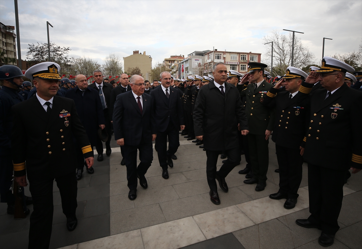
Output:
<path fill-rule="evenodd" d="M 130 190 L 137 189 L 137 175 L 144 176 L 153 160 L 152 142 L 140 143 L 136 146 L 123 145 L 125 163 L 127 167 L 127 186 Z M 137 166 L 137 149 L 139 150 L 140 163 Z"/>

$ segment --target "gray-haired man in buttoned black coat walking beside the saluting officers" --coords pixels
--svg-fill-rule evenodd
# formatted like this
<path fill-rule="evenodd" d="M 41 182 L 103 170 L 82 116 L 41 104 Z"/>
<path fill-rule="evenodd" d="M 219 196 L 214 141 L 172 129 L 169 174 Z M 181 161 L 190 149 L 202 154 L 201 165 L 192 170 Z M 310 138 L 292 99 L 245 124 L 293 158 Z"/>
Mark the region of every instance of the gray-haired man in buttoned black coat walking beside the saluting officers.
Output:
<path fill-rule="evenodd" d="M 240 162 L 237 126 L 241 134 L 247 135 L 248 122 L 241 105 L 240 94 L 234 85 L 226 83 L 227 68 L 225 63 L 214 64 L 214 80 L 203 86 L 198 93 L 193 113 L 195 135 L 204 141 L 206 149 L 206 174 L 210 187 L 210 200 L 219 205 L 220 199 L 215 179 L 225 192 L 228 186 L 225 177 Z M 224 151 L 228 160 L 216 172 L 219 153 Z"/>

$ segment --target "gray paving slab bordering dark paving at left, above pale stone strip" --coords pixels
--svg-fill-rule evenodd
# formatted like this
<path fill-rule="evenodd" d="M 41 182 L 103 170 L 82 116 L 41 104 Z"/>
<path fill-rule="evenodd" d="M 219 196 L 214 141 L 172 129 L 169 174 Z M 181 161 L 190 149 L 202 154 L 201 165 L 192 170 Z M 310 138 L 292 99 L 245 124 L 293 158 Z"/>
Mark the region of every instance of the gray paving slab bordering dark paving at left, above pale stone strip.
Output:
<path fill-rule="evenodd" d="M 158 203 L 111 213 L 110 220 L 111 235 L 166 222 Z"/>

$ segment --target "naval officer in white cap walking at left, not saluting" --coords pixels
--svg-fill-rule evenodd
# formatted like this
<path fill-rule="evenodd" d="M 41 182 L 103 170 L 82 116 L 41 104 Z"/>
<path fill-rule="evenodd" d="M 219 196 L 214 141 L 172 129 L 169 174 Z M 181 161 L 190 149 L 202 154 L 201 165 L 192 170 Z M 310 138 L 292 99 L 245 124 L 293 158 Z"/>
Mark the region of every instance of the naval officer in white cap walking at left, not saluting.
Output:
<path fill-rule="evenodd" d="M 78 117 L 74 101 L 55 96 L 60 66 L 43 62 L 30 67 L 25 76 L 32 79 L 35 97 L 12 107 L 14 122 L 12 150 L 15 180 L 27 186 L 33 197 L 30 216 L 29 248 L 49 248 L 53 220 L 53 181 L 60 191 L 67 229 L 77 226 L 77 160 L 73 137 L 83 151 L 87 166 L 93 165 L 93 150 Z M 24 132 L 18 132 L 18 131 Z M 21 152 L 21 153 L 19 153 Z"/>

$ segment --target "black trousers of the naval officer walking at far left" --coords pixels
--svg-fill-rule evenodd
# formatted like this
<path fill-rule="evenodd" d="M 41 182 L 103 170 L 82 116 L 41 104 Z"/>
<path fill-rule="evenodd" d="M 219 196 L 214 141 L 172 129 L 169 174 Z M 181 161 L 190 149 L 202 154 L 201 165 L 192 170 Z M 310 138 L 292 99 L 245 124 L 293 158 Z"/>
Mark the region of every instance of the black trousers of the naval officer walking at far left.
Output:
<path fill-rule="evenodd" d="M 32 180 L 29 177 L 33 212 L 30 215 L 29 248 L 49 248 L 53 221 L 53 180 L 54 177 Z M 72 172 L 66 176 L 55 177 L 62 198 L 63 214 L 67 218 L 75 217 L 77 208 L 77 180 Z"/>

